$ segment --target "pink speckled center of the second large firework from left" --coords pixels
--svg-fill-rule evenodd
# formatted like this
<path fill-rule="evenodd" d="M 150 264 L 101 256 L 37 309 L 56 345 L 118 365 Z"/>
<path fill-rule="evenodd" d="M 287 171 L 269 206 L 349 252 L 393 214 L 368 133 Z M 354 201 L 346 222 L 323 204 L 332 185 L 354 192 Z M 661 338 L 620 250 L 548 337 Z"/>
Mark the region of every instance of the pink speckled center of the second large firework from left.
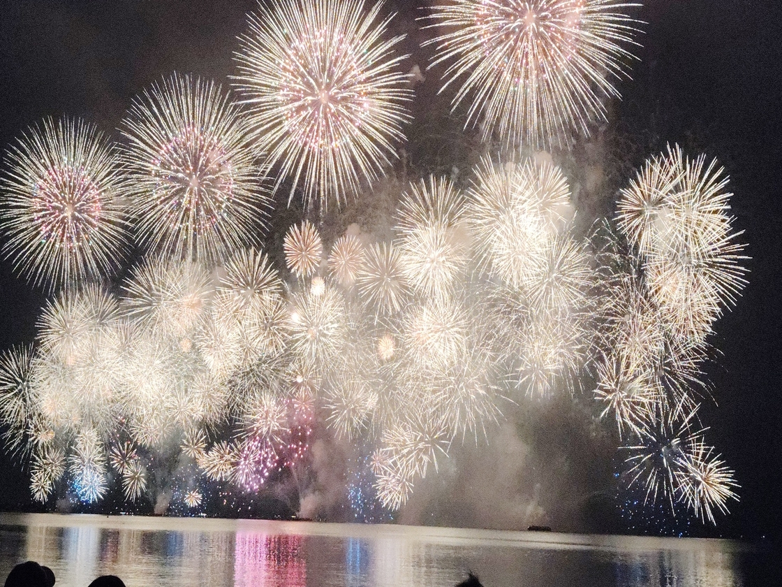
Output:
<path fill-rule="evenodd" d="M 195 229 L 207 229 L 222 218 L 233 195 L 231 160 L 221 143 L 198 128 L 187 127 L 171 139 L 152 162 L 156 196 L 170 210 L 172 222 L 188 214 Z"/>

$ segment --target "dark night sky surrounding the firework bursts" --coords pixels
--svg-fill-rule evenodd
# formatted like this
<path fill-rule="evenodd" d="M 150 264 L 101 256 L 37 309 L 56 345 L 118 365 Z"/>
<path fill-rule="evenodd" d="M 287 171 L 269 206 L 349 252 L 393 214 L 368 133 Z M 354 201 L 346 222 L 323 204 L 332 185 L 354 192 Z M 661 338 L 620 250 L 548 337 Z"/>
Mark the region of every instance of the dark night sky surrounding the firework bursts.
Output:
<path fill-rule="evenodd" d="M 424 0 L 421 0 L 423 3 Z M 414 2 L 390 2 L 412 30 Z M 737 472 L 741 503 L 727 535 L 780 535 L 782 352 L 780 135 L 782 11 L 775 0 L 646 0 L 647 24 L 614 105 L 616 131 L 640 164 L 666 142 L 719 157 L 730 174 L 738 229 L 749 243 L 750 284 L 716 325 L 722 356 L 708 366 L 719 405 L 705 405 L 709 441 Z M 227 82 L 231 51 L 255 0 L 0 0 L 0 147 L 46 116 L 117 127 L 131 98 L 174 70 Z M 411 43 L 408 62 L 429 52 Z M 436 87 L 430 75 L 414 110 Z M 0 262 L 0 348 L 30 341 L 43 297 Z M 708 403 L 708 402 L 707 402 Z M 7 463 L 2 461 L 2 466 Z M 4 475 L 5 477 L 5 475 Z M 18 479 L 18 475 L 13 479 Z M 27 491 L 27 488 L 23 488 Z"/>

